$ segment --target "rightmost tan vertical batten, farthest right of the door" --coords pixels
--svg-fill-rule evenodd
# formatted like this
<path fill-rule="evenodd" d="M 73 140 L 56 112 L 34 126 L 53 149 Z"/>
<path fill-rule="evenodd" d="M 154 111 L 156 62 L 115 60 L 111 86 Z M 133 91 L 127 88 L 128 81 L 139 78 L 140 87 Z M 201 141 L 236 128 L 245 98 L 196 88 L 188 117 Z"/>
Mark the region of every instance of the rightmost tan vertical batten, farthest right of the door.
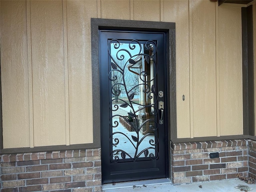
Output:
<path fill-rule="evenodd" d="M 216 123 L 217 136 L 220 136 L 220 64 L 219 64 L 219 10 L 215 2 L 215 62 L 216 62 Z"/>

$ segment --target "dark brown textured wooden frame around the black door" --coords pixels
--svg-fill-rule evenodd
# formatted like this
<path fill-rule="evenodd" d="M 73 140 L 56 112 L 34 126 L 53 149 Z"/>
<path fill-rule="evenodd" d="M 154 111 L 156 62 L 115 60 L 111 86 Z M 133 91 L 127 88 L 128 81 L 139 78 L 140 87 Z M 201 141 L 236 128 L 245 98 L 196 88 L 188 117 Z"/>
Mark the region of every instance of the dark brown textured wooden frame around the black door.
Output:
<path fill-rule="evenodd" d="M 134 20 L 114 20 L 91 18 L 91 48 L 92 48 L 92 105 L 93 105 L 93 127 L 97 133 L 97 140 L 101 140 L 101 108 L 100 108 L 100 62 L 99 62 L 99 30 L 137 30 L 166 33 L 166 88 L 168 128 L 166 129 L 166 142 L 168 145 L 168 173 L 170 170 L 170 136 L 176 135 L 176 54 L 175 54 L 175 23 L 170 22 L 149 22 Z M 167 158 L 167 157 L 166 157 Z"/>

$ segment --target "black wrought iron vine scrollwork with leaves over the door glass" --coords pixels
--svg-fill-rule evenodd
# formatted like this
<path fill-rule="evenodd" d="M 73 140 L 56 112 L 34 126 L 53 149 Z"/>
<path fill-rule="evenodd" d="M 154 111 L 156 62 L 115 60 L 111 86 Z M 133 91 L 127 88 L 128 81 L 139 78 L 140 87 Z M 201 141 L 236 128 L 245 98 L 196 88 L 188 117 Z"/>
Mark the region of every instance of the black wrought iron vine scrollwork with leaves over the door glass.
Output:
<path fill-rule="evenodd" d="M 141 43 L 139 40 L 131 40 L 123 46 L 118 39 L 112 39 L 108 43 L 108 54 L 110 56 L 110 72 L 109 80 L 111 84 L 112 98 L 110 100 L 110 112 L 118 112 L 120 109 L 130 108 L 128 112 L 128 117 L 131 118 L 132 131 L 135 133 L 127 136 L 123 132 L 114 131 L 110 135 L 110 145 L 113 146 L 113 150 L 110 153 L 110 161 L 112 163 L 118 163 L 122 161 L 137 161 L 138 158 L 144 157 L 150 160 L 158 159 L 158 122 L 154 120 L 158 114 L 156 108 L 158 95 L 156 93 L 156 87 L 154 82 L 156 80 L 157 74 L 157 63 L 156 63 L 156 52 L 157 44 L 153 40 L 149 40 Z M 152 70 L 140 69 L 140 72 L 134 72 L 138 77 L 138 83 L 133 85 L 128 85 L 127 68 L 138 65 L 139 62 L 144 62 L 145 66 L 149 66 Z M 146 68 L 146 67 L 145 67 Z M 135 90 L 140 88 L 141 93 L 144 95 L 144 103 L 136 103 L 134 101 Z M 127 100 L 120 98 L 121 94 L 125 94 Z M 121 104 L 112 104 L 112 102 L 121 102 Z M 134 106 L 139 106 L 138 110 Z M 148 111 L 148 116 L 152 116 L 153 119 L 148 118 L 144 122 L 139 122 L 138 115 L 136 113 L 141 111 Z M 110 127 L 117 128 L 119 125 L 117 117 L 124 118 L 124 120 L 129 121 L 129 118 L 121 114 L 112 114 L 110 117 Z M 148 130 L 143 136 L 141 136 L 140 131 L 146 126 Z M 130 154 L 122 148 L 118 148 L 120 144 L 120 139 L 118 136 L 126 138 L 130 142 L 130 147 L 135 151 L 134 154 Z M 145 142 L 146 138 L 149 138 L 148 147 L 141 148 L 142 143 Z M 115 149 L 116 148 L 116 149 Z"/>

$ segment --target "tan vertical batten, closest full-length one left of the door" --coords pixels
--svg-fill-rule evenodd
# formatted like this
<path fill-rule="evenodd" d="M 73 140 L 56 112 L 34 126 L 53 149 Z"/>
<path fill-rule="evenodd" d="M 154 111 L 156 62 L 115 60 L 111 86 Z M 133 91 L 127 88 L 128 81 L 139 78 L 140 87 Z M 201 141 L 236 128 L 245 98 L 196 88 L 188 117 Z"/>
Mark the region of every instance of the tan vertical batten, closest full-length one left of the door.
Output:
<path fill-rule="evenodd" d="M 64 84 L 65 84 L 65 114 L 66 114 L 66 145 L 70 145 L 69 123 L 69 87 L 68 87 L 68 34 L 67 34 L 67 2 L 62 1 L 63 13 L 63 46 L 64 46 Z"/>

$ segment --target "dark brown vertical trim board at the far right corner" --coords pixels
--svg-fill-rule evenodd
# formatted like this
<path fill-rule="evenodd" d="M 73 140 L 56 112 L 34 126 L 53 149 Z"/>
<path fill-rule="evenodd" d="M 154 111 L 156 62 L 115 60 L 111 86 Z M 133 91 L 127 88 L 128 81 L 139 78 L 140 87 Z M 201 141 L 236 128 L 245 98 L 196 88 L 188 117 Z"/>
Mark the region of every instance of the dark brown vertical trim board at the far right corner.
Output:
<path fill-rule="evenodd" d="M 242 11 L 242 73 L 244 135 L 254 136 L 254 61 L 252 5 Z"/>

